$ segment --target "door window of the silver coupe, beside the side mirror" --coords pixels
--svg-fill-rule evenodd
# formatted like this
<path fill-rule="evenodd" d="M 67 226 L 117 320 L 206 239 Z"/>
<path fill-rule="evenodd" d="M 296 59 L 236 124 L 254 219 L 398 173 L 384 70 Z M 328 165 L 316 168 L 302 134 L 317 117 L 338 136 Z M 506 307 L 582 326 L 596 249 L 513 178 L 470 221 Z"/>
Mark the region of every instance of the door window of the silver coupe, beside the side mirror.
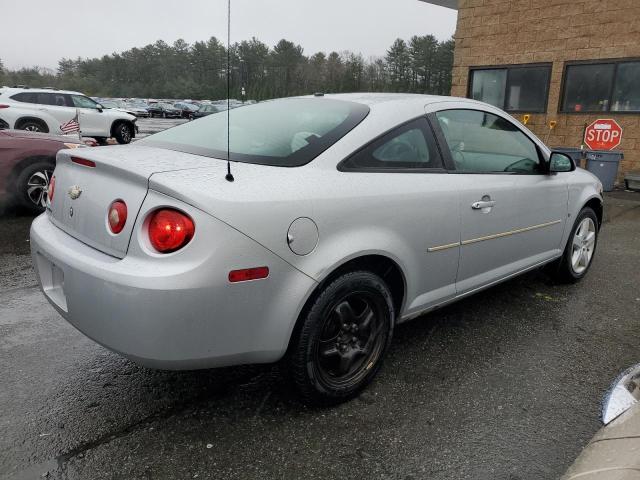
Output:
<path fill-rule="evenodd" d="M 510 121 L 479 110 L 445 110 L 436 116 L 456 170 L 542 173 L 536 145 Z"/>

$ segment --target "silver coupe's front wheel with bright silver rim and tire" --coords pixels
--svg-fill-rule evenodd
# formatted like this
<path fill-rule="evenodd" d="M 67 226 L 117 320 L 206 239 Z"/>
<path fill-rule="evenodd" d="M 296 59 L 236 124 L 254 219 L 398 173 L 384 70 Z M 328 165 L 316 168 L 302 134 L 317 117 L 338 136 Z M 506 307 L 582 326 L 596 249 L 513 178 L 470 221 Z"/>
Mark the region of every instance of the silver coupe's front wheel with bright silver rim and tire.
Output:
<path fill-rule="evenodd" d="M 562 257 L 546 267 L 546 272 L 560 283 L 576 283 L 582 280 L 591 264 L 598 246 L 598 216 L 589 207 L 583 208 L 571 229 Z"/>

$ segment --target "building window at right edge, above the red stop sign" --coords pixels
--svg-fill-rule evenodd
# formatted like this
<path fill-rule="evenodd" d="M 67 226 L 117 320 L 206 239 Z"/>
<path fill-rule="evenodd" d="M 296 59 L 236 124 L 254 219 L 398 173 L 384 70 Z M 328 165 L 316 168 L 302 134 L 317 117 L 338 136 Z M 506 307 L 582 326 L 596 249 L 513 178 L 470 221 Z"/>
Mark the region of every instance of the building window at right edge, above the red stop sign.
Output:
<path fill-rule="evenodd" d="M 562 111 L 639 112 L 640 61 L 567 65 Z"/>

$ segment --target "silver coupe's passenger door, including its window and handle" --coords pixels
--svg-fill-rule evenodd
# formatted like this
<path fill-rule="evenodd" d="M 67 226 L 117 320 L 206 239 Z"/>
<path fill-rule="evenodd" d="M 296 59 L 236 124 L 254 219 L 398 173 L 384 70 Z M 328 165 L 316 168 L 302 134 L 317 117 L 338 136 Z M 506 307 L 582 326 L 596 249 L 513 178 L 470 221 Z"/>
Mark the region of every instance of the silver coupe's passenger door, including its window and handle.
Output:
<path fill-rule="evenodd" d="M 459 178 L 458 295 L 559 256 L 568 186 L 547 173 L 541 145 L 497 110 L 447 109 L 433 118 Z"/>

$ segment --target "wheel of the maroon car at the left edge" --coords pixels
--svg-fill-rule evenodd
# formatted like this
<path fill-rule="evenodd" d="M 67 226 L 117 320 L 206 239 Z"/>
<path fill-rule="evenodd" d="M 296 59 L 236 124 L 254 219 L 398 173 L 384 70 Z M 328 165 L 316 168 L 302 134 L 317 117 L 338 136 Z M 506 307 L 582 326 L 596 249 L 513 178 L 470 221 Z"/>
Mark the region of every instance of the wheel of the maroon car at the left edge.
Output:
<path fill-rule="evenodd" d="M 16 205 L 32 213 L 44 212 L 47 205 L 49 180 L 55 168 L 55 159 L 43 158 L 28 163 L 18 172 L 14 183 Z"/>

